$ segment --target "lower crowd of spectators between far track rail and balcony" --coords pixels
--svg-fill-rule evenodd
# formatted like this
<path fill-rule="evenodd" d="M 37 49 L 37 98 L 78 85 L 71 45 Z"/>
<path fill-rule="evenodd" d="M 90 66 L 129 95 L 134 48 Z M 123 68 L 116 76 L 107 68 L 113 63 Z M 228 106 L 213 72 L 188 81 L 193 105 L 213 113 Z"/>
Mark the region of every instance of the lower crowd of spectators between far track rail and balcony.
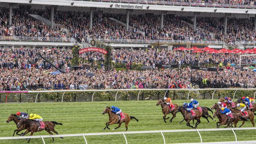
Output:
<path fill-rule="evenodd" d="M 81 70 L 67 70 L 66 73 L 54 74 L 56 71 L 49 63 L 41 59 L 41 53 L 54 65 L 68 69 L 71 50 L 63 49 L 4 49 L 0 50 L 0 89 L 135 89 L 135 88 L 193 88 L 199 87 L 255 87 L 256 72 L 236 68 L 224 68 L 219 73 L 201 72 L 187 66 L 181 69 L 155 70 L 120 70 L 105 72 L 101 68 L 84 68 Z M 81 55 L 88 63 L 104 61 L 100 53 L 84 53 Z M 191 52 L 161 50 L 113 50 L 114 63 L 141 63 L 146 66 L 155 64 L 219 64 L 236 63 L 237 54 L 195 54 Z M 247 57 L 244 61 L 251 63 L 256 57 Z M 93 72 L 95 76 L 86 76 Z M 207 78 L 207 84 L 202 79 Z"/>

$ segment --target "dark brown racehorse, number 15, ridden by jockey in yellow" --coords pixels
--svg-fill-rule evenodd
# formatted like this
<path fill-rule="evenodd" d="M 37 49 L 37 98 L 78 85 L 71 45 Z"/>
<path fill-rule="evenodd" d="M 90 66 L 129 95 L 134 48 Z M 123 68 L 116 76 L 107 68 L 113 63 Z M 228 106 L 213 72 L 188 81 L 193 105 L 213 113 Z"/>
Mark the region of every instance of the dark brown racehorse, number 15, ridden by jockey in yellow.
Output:
<path fill-rule="evenodd" d="M 20 122 L 18 122 L 17 126 L 21 127 L 22 125 L 26 124 L 27 130 L 24 133 L 22 133 L 21 136 L 26 135 L 30 131 L 31 131 L 30 136 L 32 136 L 33 133 L 38 131 L 43 131 L 43 130 L 47 131 L 50 135 L 53 135 L 51 131 L 59 135 L 59 133 L 54 129 L 54 126 L 56 124 L 59 124 L 62 126 L 61 123 L 54 122 L 54 121 L 45 121 L 44 123 L 45 123 L 45 129 L 41 129 L 39 128 L 39 125 L 35 120 L 29 120 L 29 119 L 23 118 L 22 120 L 20 120 Z M 63 137 L 60 137 L 60 138 L 63 138 Z M 30 142 L 30 139 L 31 138 L 28 139 L 28 142 Z M 54 137 L 52 137 L 52 140 L 54 141 Z"/>

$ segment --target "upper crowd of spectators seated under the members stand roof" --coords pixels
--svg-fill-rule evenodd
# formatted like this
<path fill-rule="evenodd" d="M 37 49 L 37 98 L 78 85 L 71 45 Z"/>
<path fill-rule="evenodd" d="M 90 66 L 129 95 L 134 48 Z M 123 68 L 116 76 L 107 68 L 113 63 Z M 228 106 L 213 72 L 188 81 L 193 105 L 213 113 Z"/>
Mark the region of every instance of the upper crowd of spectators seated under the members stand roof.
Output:
<path fill-rule="evenodd" d="M 38 14 L 50 20 L 49 9 L 13 9 L 12 25 L 9 24 L 9 9 L 0 9 L 0 36 L 73 37 L 78 42 L 91 39 L 148 39 L 148 40 L 199 40 L 199 41 L 255 41 L 256 33 L 253 20 L 248 18 L 228 18 L 227 34 L 224 34 L 223 18 L 198 17 L 194 30 L 192 17 L 165 15 L 163 28 L 160 28 L 160 15 L 130 15 L 130 28 L 110 18 L 126 22 L 125 14 L 93 13 L 93 26 L 89 29 L 89 13 L 83 11 L 55 10 L 51 28 L 44 22 L 36 20 L 30 14 Z M 68 30 L 68 31 L 67 31 Z"/>

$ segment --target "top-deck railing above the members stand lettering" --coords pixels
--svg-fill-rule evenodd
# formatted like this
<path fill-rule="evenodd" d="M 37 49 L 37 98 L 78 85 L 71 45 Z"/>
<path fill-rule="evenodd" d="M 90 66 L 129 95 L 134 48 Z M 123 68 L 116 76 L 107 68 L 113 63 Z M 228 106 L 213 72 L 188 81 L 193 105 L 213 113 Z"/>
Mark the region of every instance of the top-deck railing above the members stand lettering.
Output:
<path fill-rule="evenodd" d="M 167 5 L 167 6 L 189 6 L 189 7 L 255 9 L 254 5 L 212 4 L 212 3 L 197 3 L 197 2 L 172 2 L 172 1 L 165 1 L 165 0 L 77 0 L 77 1 L 112 2 L 112 3 L 123 3 L 123 4 Z"/>

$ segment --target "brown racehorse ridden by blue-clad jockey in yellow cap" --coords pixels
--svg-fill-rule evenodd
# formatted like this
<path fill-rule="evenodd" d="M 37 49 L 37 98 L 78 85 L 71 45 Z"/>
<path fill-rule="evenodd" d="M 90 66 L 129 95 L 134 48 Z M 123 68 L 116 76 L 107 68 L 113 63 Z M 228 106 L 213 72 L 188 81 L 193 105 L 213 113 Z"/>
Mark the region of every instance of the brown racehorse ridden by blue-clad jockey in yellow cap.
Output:
<path fill-rule="evenodd" d="M 234 126 L 236 127 L 238 121 L 240 120 L 240 117 L 236 113 L 232 113 L 232 114 L 233 114 L 233 118 L 230 118 L 230 120 L 228 121 L 228 116 L 226 116 L 226 114 L 221 113 L 220 109 L 217 109 L 213 114 L 213 117 L 217 116 L 217 118 L 219 119 L 219 122 L 216 123 L 217 124 L 216 128 L 219 128 L 220 126 L 226 125 L 226 124 L 227 124 L 226 127 L 230 127 L 229 126 L 230 124 L 231 124 L 231 127 L 233 127 L 232 122 L 234 122 Z"/>

